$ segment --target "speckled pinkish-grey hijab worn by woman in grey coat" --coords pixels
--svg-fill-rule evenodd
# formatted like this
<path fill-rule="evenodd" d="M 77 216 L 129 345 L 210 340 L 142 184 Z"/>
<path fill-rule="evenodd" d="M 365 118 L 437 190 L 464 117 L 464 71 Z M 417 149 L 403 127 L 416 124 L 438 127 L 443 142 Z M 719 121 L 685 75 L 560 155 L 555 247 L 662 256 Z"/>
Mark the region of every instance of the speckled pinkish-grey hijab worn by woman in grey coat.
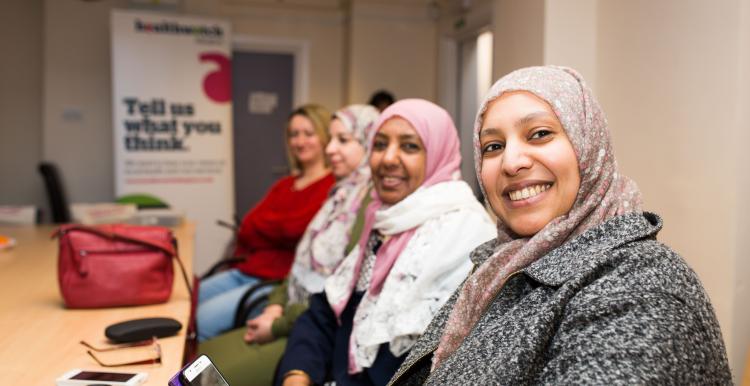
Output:
<path fill-rule="evenodd" d="M 433 369 L 458 349 L 510 274 L 609 218 L 640 211 L 638 187 L 617 171 L 604 112 L 581 75 L 565 67 L 523 68 L 492 86 L 474 123 L 474 164 L 479 181 L 479 131 L 484 114 L 492 101 L 512 91 L 528 91 L 550 105 L 573 145 L 581 185 L 570 212 L 553 219 L 531 237 L 515 236 L 498 220 L 495 251 L 460 289 L 433 357 Z M 486 195 L 484 187 L 482 192 Z"/>

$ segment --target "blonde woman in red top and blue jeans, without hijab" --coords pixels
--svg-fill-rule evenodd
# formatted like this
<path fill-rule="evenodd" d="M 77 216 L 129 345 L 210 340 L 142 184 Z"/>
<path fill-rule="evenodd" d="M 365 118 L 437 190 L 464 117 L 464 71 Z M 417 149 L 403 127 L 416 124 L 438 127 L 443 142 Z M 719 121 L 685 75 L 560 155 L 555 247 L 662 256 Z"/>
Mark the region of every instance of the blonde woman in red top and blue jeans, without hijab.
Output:
<path fill-rule="evenodd" d="M 289 117 L 287 156 L 292 174 L 277 181 L 246 215 L 237 234 L 234 268 L 201 282 L 198 294 L 198 340 L 232 327 L 240 298 L 250 286 L 286 277 L 297 242 L 328 196 L 335 179 L 326 164 L 331 113 L 305 105 Z"/>

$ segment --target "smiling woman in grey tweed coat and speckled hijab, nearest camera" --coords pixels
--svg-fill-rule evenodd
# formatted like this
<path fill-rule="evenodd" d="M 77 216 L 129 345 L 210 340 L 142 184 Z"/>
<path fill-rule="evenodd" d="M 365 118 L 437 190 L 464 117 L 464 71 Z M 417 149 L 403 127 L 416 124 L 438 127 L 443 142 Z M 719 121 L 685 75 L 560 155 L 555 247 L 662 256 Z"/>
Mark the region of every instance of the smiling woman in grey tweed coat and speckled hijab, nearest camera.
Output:
<path fill-rule="evenodd" d="M 731 384 L 708 296 L 656 241 L 577 72 L 500 79 L 474 146 L 498 237 L 391 384 Z"/>

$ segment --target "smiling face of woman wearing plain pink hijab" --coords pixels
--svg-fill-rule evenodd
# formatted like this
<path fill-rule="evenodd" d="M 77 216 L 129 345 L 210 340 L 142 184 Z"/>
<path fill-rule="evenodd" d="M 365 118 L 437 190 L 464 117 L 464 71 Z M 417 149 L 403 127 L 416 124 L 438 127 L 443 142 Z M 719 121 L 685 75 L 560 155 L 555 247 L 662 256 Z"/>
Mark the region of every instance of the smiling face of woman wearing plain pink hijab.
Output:
<path fill-rule="evenodd" d="M 372 181 L 380 200 L 392 205 L 425 179 L 427 153 L 414 127 L 403 118 L 387 120 L 375 133 L 370 155 Z"/>

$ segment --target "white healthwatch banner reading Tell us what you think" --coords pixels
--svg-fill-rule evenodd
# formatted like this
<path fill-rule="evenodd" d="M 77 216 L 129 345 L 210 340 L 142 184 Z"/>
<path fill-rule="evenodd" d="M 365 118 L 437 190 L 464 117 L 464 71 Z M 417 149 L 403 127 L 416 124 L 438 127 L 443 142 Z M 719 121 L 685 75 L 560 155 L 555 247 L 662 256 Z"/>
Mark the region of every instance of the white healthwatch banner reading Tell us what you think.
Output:
<path fill-rule="evenodd" d="M 147 194 L 196 222 L 195 269 L 232 235 L 229 23 L 160 13 L 112 12 L 117 196 Z"/>

